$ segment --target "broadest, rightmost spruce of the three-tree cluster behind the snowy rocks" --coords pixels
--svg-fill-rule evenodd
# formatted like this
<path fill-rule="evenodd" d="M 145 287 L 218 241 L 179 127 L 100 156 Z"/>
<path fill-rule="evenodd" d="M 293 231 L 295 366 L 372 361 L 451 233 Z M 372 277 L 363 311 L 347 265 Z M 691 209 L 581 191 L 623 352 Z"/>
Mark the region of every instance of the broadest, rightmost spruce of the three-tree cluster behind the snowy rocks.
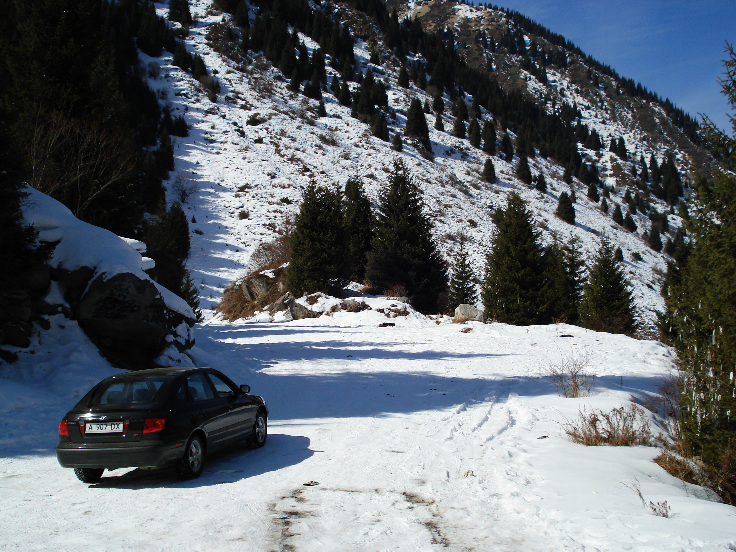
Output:
<path fill-rule="evenodd" d="M 417 310 L 437 312 L 447 289 L 447 272 L 423 207 L 419 185 L 403 160 L 395 160 L 379 194 L 366 279 L 381 290 L 406 286 Z"/>

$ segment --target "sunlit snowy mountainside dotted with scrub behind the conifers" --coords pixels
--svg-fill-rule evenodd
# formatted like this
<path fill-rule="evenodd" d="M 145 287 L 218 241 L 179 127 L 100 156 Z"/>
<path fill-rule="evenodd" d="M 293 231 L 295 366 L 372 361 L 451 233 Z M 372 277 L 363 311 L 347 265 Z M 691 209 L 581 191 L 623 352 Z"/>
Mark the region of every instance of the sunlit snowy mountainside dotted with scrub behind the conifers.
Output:
<path fill-rule="evenodd" d="M 505 205 L 509 191 L 517 191 L 534 210 L 545 241 L 555 236 L 563 239 L 578 236 L 589 255 L 601 236 L 618 244 L 624 252 L 627 276 L 643 321 L 653 321 L 653 311 L 662 305 L 657 281 L 665 269 L 666 256 L 652 251 L 643 242 L 640 234 L 650 223 L 640 213 L 634 216 L 639 234 L 626 232 L 585 197 L 585 189 L 578 183 L 576 225 L 572 227 L 554 215 L 559 194 L 570 188 L 561 180 L 562 168 L 550 160 L 537 157 L 531 161 L 534 174 L 541 171 L 547 177 L 547 194 L 523 185 L 514 177 L 516 158 L 506 163 L 494 157 L 499 180 L 489 185 L 480 177 L 486 154 L 447 132 L 430 132 L 436 154 L 433 161 L 422 158 L 408 141 L 403 152 L 392 151 L 389 143 L 370 135 L 367 125 L 350 118 L 350 108 L 342 107 L 329 94 L 323 95 L 328 116 L 316 117 L 316 102 L 286 91 L 286 79 L 263 58 L 243 68 L 213 52 L 206 40 L 208 26 L 227 21 L 229 15 L 210 10 L 207 1 L 191 4 L 197 22 L 190 29 L 187 47 L 201 54 L 213 73 L 217 71 L 224 100 L 216 104 L 209 102 L 199 91 L 198 83 L 171 66 L 171 57 L 166 54 L 157 60 L 144 56 L 144 62 L 162 65 L 163 77 L 152 79 L 151 85 L 160 97 L 166 97 L 172 114 L 184 114 L 192 127 L 188 138 L 177 138 L 175 151 L 177 171 L 199 184 L 199 193 L 187 204 L 197 220 L 191 224 L 197 235 L 192 236 L 188 266 L 199 278 L 202 306 L 208 316 L 213 314 L 211 309 L 219 302 L 222 289 L 248 268 L 248 258 L 255 247 L 274 238 L 283 219 L 297 212 L 300 191 L 309 180 L 344 185 L 348 177 L 360 176 L 369 197 L 375 201 L 384 171 L 392 166 L 394 159 L 402 158 L 420 180 L 427 212 L 434 220 L 436 240 L 445 255 L 451 255 L 456 247 L 452 236 L 464 230 L 470 236 L 473 266 L 481 275 L 484 252 L 494 230 L 489 213 Z M 166 15 L 163 4 L 157 7 L 160 15 Z M 300 36 L 311 54 L 316 43 Z M 369 52 L 360 40 L 355 45 L 355 57 L 364 71 L 372 67 L 375 77 L 386 82 L 389 106 L 397 111 L 396 124 L 389 120 L 389 130 L 392 134 L 401 132 L 411 98 L 419 97 L 422 102 L 431 98 L 414 87 L 408 91 L 397 88 L 398 68 L 372 66 L 368 63 Z M 328 67 L 327 71 L 330 77 L 335 74 L 332 68 Z M 573 88 L 567 77 L 553 71 L 550 71 L 550 82 L 560 90 Z M 354 82 L 350 84 L 355 87 Z M 645 158 L 654 152 L 661 160 L 665 146 L 637 141 L 637 132 L 630 132 L 622 124 L 604 125 L 599 121 L 603 111 L 585 102 L 582 96 L 573 98 L 572 91 L 565 97 L 565 101 L 576 102 L 581 107 L 584 122 L 598 129 L 602 138 L 623 135 L 630 151 L 635 149 Z M 472 98 L 468 96 L 467 101 L 472 102 Z M 250 118 L 263 122 L 249 125 Z M 430 129 L 434 129 L 432 118 L 428 116 Z M 445 118 L 445 127 L 451 127 L 449 117 Z M 581 152 L 609 169 L 603 174 L 607 185 L 615 184 L 611 170 L 614 163 L 623 171 L 628 171 L 630 166 L 603 149 L 600 154 L 583 148 Z M 679 156 L 679 163 L 684 170 L 687 166 L 684 155 Z M 623 188 L 617 188 L 612 194 L 610 212 L 615 208 L 614 202 L 626 210 L 623 193 Z M 169 199 L 174 199 L 171 192 Z M 668 210 L 654 197 L 652 205 L 660 212 Z M 246 215 L 247 218 L 241 218 Z M 670 215 L 669 218 L 670 230 L 674 232 L 680 224 L 679 217 Z M 643 261 L 632 260 L 633 252 L 639 252 Z"/>

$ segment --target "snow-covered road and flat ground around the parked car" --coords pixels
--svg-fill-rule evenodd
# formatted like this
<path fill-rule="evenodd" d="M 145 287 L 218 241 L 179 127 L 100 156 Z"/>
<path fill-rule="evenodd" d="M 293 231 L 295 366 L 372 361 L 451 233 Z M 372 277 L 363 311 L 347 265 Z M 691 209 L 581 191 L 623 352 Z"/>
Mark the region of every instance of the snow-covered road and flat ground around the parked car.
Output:
<path fill-rule="evenodd" d="M 656 448 L 583 447 L 560 435 L 559 420 L 578 408 L 651 389 L 668 366 L 665 347 L 565 325 L 470 323 L 461 333 L 470 325 L 378 328 L 372 316 L 383 317 L 202 325 L 199 363 L 250 383 L 271 418 L 266 447 L 211 456 L 195 481 L 116 470 L 85 485 L 57 465 L 55 422 L 88 381 L 115 371 L 92 361 L 83 336 L 53 357 L 66 365 L 39 353 L 4 368 L 0 549 L 736 548 L 736 509 L 696 498 L 651 462 Z M 539 378 L 539 361 L 558 347 L 593 353 L 591 397 L 557 397 Z M 671 519 L 642 506 L 624 485 L 634 478 L 646 500 L 668 501 Z"/>

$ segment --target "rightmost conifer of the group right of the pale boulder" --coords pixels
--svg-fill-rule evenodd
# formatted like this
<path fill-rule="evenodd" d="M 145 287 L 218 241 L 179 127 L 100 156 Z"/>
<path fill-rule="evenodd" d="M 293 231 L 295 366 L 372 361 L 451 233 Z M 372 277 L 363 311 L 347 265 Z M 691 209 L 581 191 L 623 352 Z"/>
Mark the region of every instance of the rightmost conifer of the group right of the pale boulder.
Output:
<path fill-rule="evenodd" d="M 578 309 L 581 325 L 595 331 L 634 333 L 634 300 L 627 285 L 614 247 L 609 241 L 601 241 L 583 285 L 583 300 Z"/>

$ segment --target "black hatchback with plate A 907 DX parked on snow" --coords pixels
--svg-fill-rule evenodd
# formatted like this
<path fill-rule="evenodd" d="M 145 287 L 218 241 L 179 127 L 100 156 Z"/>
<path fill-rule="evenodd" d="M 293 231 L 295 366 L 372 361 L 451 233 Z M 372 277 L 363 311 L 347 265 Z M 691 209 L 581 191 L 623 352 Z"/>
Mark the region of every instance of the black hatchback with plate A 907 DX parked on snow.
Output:
<path fill-rule="evenodd" d="M 85 483 L 105 468 L 174 464 L 199 477 L 205 454 L 249 439 L 266 443 L 266 401 L 211 368 L 157 368 L 113 375 L 59 424 L 56 457 Z"/>

